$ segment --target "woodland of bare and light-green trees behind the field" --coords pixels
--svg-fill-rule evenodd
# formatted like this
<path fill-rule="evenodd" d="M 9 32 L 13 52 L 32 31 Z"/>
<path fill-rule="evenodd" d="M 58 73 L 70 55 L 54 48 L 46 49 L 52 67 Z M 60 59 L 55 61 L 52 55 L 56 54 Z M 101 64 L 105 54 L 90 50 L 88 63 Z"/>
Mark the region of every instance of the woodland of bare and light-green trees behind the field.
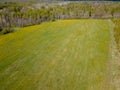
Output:
<path fill-rule="evenodd" d="M 42 2 L 0 4 L 0 31 L 13 31 L 45 21 L 78 18 L 120 18 L 119 2 Z"/>

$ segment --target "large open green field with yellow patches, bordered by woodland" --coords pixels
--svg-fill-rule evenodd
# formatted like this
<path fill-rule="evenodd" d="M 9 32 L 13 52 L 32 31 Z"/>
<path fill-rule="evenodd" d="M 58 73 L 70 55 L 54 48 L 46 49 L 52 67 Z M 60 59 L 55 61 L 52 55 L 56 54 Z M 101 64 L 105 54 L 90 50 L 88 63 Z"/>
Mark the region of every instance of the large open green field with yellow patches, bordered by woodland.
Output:
<path fill-rule="evenodd" d="M 60 20 L 0 36 L 0 90 L 109 90 L 110 20 Z"/>

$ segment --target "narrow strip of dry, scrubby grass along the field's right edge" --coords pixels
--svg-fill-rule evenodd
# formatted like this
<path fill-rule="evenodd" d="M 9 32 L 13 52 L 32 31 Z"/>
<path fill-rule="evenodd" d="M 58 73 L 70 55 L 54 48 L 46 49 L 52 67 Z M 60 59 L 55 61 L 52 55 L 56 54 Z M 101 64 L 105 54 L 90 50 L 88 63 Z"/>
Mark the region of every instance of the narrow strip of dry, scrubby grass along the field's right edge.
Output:
<path fill-rule="evenodd" d="M 113 20 L 114 32 L 112 37 L 112 85 L 120 90 L 120 19 Z"/>

